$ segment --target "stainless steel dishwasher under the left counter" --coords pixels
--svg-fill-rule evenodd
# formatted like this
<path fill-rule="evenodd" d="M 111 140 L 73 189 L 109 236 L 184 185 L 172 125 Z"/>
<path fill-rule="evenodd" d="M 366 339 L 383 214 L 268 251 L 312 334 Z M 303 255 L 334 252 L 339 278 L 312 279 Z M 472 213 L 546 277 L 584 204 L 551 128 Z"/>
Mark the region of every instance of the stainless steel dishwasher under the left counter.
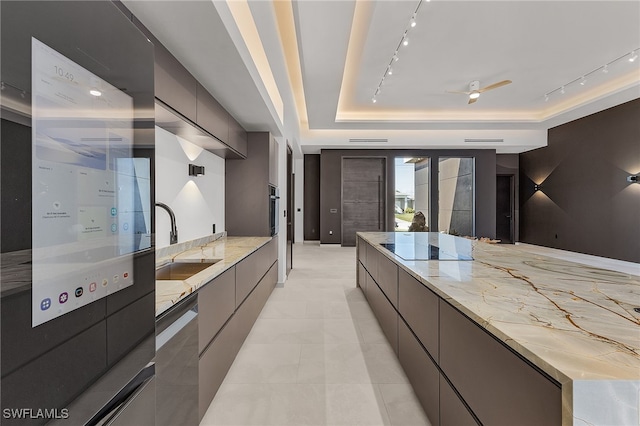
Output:
<path fill-rule="evenodd" d="M 156 321 L 156 425 L 198 425 L 198 295 Z"/>

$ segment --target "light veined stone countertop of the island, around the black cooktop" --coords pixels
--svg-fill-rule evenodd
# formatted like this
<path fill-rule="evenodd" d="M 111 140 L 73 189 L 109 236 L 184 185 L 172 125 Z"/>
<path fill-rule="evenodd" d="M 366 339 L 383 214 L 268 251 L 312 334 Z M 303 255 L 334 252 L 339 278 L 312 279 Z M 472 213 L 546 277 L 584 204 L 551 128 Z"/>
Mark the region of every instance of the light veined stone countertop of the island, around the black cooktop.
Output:
<path fill-rule="evenodd" d="M 477 241 L 473 261 L 405 260 L 381 244 L 410 234 L 358 235 L 556 379 L 563 425 L 640 424 L 638 276 Z"/>

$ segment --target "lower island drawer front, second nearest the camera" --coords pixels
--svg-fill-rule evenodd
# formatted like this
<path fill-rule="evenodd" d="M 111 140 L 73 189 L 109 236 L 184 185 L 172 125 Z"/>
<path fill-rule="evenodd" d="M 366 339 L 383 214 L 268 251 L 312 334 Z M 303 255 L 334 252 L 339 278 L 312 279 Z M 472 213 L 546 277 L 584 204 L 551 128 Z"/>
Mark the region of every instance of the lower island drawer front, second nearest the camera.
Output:
<path fill-rule="evenodd" d="M 398 359 L 432 425 L 440 424 L 440 372 L 404 321 L 398 321 Z"/>

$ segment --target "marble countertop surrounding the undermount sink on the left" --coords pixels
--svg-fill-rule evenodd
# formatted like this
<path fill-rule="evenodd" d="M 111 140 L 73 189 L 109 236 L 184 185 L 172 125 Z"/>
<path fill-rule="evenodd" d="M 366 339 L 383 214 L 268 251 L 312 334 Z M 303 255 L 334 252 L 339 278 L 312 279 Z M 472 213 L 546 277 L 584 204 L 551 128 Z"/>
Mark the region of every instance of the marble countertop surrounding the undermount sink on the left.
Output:
<path fill-rule="evenodd" d="M 219 259 L 219 261 L 186 280 L 157 280 L 156 317 L 269 241 L 271 237 L 222 237 L 200 246 L 187 248 L 177 254 L 162 255 L 162 252 L 158 251 L 156 267 L 173 261 L 200 259 Z"/>

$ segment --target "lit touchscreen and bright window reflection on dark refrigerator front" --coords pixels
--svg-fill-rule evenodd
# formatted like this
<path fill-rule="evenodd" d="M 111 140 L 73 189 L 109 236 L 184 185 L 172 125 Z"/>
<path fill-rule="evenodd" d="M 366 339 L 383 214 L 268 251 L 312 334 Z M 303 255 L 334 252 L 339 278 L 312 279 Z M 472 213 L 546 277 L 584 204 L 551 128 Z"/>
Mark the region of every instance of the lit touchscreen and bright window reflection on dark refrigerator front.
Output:
<path fill-rule="evenodd" d="M 151 247 L 133 99 L 32 39 L 32 326 L 133 285 Z"/>

